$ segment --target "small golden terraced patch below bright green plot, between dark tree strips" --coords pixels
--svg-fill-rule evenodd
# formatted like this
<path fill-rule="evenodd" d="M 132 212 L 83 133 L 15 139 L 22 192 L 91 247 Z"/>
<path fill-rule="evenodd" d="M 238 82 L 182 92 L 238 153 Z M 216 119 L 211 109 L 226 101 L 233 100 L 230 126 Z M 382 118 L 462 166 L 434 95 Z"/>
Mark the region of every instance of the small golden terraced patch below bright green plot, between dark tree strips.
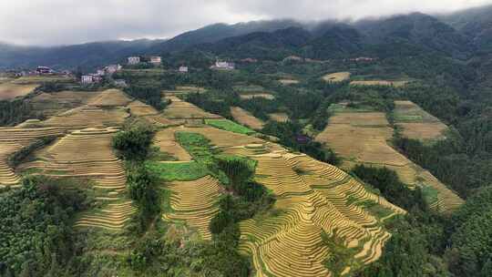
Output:
<path fill-rule="evenodd" d="M 200 233 L 201 238 L 210 240 L 210 221 L 219 212 L 220 183 L 206 176 L 199 180 L 174 181 L 167 188 L 172 192 L 172 211 L 165 213 L 163 220 L 186 221 L 190 228 Z"/>

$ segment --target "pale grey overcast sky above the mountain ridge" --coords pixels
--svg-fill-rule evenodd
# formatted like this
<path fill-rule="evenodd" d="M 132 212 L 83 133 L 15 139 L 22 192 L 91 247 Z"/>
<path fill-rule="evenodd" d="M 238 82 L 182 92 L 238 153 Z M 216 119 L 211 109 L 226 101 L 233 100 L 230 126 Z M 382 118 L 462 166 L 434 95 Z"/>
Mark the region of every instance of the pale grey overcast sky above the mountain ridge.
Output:
<path fill-rule="evenodd" d="M 47 46 L 169 38 L 220 22 L 360 19 L 487 4 L 492 0 L 0 0 L 0 41 Z"/>

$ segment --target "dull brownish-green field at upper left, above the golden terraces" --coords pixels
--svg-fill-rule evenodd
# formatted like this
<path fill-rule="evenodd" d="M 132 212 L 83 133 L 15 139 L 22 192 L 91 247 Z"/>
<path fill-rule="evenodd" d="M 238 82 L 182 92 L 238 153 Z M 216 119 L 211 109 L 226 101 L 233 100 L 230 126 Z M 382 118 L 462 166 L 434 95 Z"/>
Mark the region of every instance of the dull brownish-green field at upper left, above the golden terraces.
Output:
<path fill-rule="evenodd" d="M 87 105 L 88 102 L 99 94 L 100 92 L 98 91 L 43 92 L 29 99 L 29 103 L 36 113 L 49 118 L 69 109 Z"/>

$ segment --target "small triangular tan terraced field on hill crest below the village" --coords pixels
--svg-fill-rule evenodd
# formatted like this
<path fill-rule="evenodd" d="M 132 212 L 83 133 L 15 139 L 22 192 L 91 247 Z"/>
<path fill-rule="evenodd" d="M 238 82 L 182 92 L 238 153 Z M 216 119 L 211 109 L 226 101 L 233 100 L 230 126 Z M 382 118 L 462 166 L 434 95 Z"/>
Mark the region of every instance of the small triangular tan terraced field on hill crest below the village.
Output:
<path fill-rule="evenodd" d="M 195 105 L 179 99 L 175 96 L 167 96 L 171 104 L 164 109 L 162 115 L 169 119 L 191 119 L 191 118 L 222 118 L 210 114 Z"/>

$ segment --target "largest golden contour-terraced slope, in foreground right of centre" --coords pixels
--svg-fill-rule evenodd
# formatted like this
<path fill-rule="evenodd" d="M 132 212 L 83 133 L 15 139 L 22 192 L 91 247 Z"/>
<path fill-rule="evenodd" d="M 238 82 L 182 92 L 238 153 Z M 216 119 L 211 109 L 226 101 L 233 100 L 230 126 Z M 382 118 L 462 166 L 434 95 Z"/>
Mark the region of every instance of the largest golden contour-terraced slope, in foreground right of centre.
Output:
<path fill-rule="evenodd" d="M 305 155 L 277 150 L 250 158 L 259 162 L 256 180 L 272 190 L 275 208 L 283 210 L 280 216 L 240 223 L 240 250 L 251 255 L 257 276 L 328 276 L 323 260 L 330 250 L 323 245 L 323 231 L 336 230 L 359 264 L 374 262 L 391 236 L 380 222 L 405 213 L 342 170 Z M 367 200 L 387 214 L 378 217 L 356 204 Z"/>

